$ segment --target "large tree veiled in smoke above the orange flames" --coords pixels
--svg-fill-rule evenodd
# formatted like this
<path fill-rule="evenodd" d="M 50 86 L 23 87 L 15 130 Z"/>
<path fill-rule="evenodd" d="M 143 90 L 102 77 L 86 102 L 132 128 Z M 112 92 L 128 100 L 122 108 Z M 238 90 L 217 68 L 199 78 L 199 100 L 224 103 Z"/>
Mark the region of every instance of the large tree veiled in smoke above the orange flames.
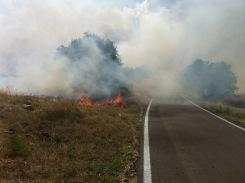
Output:
<path fill-rule="evenodd" d="M 72 92 L 94 99 L 112 98 L 119 90 L 129 92 L 129 72 L 122 66 L 115 44 L 95 34 L 85 33 L 68 46 L 57 49 L 57 58 L 65 62 Z"/>

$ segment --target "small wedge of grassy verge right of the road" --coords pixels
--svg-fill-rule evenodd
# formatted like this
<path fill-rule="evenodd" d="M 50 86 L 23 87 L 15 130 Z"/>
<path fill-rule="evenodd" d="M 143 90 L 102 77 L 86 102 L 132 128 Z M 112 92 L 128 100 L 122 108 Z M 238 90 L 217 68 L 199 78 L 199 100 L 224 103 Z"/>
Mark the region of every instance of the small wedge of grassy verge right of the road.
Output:
<path fill-rule="evenodd" d="M 206 103 L 204 107 L 209 111 L 231 121 L 245 126 L 245 97 L 229 99 L 222 102 Z"/>

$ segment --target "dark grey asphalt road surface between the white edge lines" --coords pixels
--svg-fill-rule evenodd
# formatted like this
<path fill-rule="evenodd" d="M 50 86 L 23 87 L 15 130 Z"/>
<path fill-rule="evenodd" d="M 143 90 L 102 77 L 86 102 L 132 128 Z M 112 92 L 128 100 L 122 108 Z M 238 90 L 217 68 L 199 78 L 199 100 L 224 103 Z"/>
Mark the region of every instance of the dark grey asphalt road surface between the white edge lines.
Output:
<path fill-rule="evenodd" d="M 153 183 L 245 183 L 245 132 L 188 102 L 153 102 L 149 144 Z"/>

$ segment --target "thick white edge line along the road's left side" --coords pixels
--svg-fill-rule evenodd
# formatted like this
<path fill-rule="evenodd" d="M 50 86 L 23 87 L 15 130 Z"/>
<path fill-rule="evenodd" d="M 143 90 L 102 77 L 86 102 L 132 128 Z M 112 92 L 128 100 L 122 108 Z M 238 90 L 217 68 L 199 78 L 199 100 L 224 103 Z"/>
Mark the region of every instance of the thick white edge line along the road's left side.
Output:
<path fill-rule="evenodd" d="M 145 124 L 144 124 L 144 172 L 143 172 L 143 182 L 152 183 L 151 176 L 151 157 L 150 157 L 150 146 L 149 146 L 149 111 L 151 108 L 152 100 L 150 101 L 147 111 L 145 114 Z"/>

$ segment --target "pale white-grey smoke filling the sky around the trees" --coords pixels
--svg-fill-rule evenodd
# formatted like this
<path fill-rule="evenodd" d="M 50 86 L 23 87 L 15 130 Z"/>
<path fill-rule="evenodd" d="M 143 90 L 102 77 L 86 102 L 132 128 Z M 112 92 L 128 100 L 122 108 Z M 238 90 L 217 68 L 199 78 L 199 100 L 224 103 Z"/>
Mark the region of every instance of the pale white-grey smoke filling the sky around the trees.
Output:
<path fill-rule="evenodd" d="M 182 71 L 202 58 L 231 64 L 239 91 L 245 92 L 243 0 L 154 0 L 130 8 L 86 0 L 2 0 L 0 5 L 0 87 L 70 95 L 71 78 L 60 72 L 65 62 L 58 61 L 56 48 L 93 32 L 115 42 L 125 66 L 151 73 L 134 83 L 139 90 L 178 91 Z M 97 51 L 91 55 L 101 56 Z"/>

